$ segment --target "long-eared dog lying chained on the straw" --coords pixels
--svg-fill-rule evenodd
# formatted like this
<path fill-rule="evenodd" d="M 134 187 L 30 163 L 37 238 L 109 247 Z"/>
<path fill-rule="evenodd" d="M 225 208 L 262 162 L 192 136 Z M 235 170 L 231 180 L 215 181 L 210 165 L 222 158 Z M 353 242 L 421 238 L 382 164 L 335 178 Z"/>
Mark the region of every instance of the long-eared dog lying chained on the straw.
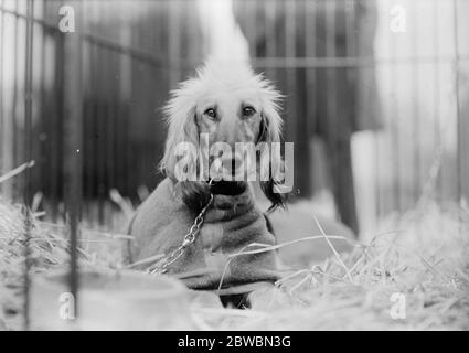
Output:
<path fill-rule="evenodd" d="M 214 60 L 209 60 L 195 77 L 172 92 L 164 108 L 168 137 L 160 162 L 166 178 L 131 221 L 131 261 L 171 254 L 209 205 L 200 233 L 168 266 L 167 274 L 180 278 L 189 288 L 216 290 L 222 299 L 239 295 L 244 298 L 244 293 L 280 277 L 276 252 L 241 254 L 276 243 L 264 212 L 256 204 L 252 182 L 244 174 L 242 180 L 228 178 L 234 175 L 233 170 L 215 181 L 210 180 L 210 171 L 209 179 L 184 180 L 181 175 L 188 176 L 189 171 L 200 175 L 203 163 L 195 153 L 180 153 L 181 146 L 188 143 L 200 148 L 201 136 L 206 137 L 209 146 L 223 142 L 235 151 L 238 142 L 255 147 L 280 142 L 280 99 L 273 83 L 245 63 L 226 65 Z M 242 159 L 236 152 L 218 153 L 211 154 L 207 162 L 217 160 L 235 170 Z M 182 161 L 183 168 L 179 168 Z M 258 185 L 271 204 L 269 212 L 285 204 L 286 194 L 279 192 L 280 183 L 271 172 L 273 165 L 281 163 L 281 157 L 273 154 L 258 165 L 268 171 Z"/>

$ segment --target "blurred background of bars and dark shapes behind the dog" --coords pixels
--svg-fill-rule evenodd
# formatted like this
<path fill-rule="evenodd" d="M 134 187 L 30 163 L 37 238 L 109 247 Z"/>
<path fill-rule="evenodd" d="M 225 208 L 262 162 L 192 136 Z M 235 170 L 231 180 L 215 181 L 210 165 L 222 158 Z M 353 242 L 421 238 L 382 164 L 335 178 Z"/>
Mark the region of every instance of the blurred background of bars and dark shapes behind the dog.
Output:
<path fill-rule="evenodd" d="M 102 224 L 111 190 L 137 205 L 162 178 L 160 109 L 225 17 L 285 95 L 292 202 L 366 233 L 469 196 L 469 0 L 0 0 L 0 175 L 35 161 L 1 194 L 54 220 L 74 190 Z"/>

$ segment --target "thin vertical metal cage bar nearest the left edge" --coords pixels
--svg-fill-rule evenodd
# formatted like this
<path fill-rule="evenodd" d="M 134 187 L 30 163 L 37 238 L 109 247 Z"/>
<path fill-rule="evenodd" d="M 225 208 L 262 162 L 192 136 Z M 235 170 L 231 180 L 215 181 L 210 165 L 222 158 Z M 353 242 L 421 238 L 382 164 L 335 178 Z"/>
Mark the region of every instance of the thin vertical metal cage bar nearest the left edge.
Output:
<path fill-rule="evenodd" d="M 24 160 L 32 159 L 32 69 L 33 69 L 33 0 L 26 1 L 26 47 L 24 76 Z M 31 169 L 24 171 L 24 330 L 30 328 L 30 239 L 31 239 Z"/>

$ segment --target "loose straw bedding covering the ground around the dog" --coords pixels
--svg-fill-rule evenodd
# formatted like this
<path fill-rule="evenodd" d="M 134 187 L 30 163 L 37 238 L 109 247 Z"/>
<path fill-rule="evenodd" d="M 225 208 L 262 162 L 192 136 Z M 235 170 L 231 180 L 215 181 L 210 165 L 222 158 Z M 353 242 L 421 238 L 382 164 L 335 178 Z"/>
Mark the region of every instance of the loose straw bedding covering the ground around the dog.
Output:
<path fill-rule="evenodd" d="M 426 202 L 383 220 L 352 253 L 253 293 L 249 310 L 194 300 L 192 317 L 200 329 L 217 330 L 469 330 L 468 225 L 467 206 L 443 211 Z M 31 274 L 66 266 L 65 229 L 33 215 Z M 82 266 L 121 267 L 125 236 L 84 224 L 81 239 Z M 21 206 L 0 199 L 0 330 L 21 329 L 23 244 Z M 392 318 L 396 296 L 405 298 L 404 319 Z"/>

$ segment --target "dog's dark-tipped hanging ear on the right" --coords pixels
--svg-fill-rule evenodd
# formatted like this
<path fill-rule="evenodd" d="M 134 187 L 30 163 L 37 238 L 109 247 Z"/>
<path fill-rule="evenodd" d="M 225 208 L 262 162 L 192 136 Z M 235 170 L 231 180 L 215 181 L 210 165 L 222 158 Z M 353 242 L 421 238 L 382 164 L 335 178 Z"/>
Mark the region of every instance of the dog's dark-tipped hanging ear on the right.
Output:
<path fill-rule="evenodd" d="M 278 168 L 283 168 L 284 161 L 280 153 L 275 153 L 273 142 L 280 143 L 281 118 L 278 114 L 278 106 L 274 99 L 266 99 L 262 111 L 262 121 L 259 127 L 258 143 L 266 142 L 269 148 L 269 158 L 260 157 L 260 173 L 268 173 L 268 179 L 265 180 L 260 175 L 260 189 L 266 197 L 271 202 L 268 212 L 277 207 L 285 207 L 287 194 L 281 193 L 277 186 L 278 181 L 275 180 L 274 173 Z M 278 150 L 279 151 L 279 150 Z"/>

